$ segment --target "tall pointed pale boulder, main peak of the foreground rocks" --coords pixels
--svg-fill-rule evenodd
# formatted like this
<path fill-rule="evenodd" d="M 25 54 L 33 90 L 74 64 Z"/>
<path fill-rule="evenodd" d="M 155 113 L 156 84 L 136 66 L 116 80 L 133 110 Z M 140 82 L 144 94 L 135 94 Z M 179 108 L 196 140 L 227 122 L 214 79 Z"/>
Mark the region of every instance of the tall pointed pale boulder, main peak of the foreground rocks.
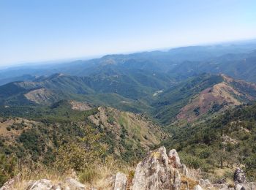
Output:
<path fill-rule="evenodd" d="M 150 151 L 137 165 L 132 180 L 132 190 L 143 189 L 179 189 L 181 176 L 171 167 L 165 147 Z"/>

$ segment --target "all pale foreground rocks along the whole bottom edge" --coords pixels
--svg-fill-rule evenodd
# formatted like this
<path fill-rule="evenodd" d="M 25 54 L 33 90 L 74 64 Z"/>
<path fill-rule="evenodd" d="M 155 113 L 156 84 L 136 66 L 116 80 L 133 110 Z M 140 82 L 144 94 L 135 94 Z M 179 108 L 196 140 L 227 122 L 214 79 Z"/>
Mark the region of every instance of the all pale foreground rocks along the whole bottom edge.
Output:
<path fill-rule="evenodd" d="M 211 183 L 208 179 L 197 178 L 193 170 L 189 170 L 185 164 L 182 164 L 175 149 L 168 153 L 165 147 L 149 151 L 138 163 L 135 173 L 125 175 L 117 172 L 116 175 L 105 179 L 108 180 L 108 186 L 104 189 L 113 190 L 143 190 L 143 189 L 170 189 L 170 190 L 201 190 L 201 189 L 222 189 L 222 190 L 254 190 L 256 183 L 246 182 L 246 175 L 243 170 L 237 168 L 234 172 L 234 183 L 227 184 L 225 179 L 218 183 Z M 107 183 L 106 183 L 107 184 Z M 82 190 L 96 189 L 78 182 L 75 172 L 72 178 L 66 178 L 60 183 L 54 183 L 50 179 L 20 181 L 20 175 L 8 180 L 0 190 L 26 189 L 26 190 Z"/>

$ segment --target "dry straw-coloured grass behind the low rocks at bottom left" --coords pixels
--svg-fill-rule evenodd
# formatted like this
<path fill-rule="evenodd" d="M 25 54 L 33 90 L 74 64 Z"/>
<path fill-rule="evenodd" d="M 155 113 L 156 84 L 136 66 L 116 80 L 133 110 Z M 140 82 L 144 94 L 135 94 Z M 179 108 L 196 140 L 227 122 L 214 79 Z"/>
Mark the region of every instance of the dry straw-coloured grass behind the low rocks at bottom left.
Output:
<path fill-rule="evenodd" d="M 59 172 L 54 168 L 45 167 L 41 164 L 34 164 L 32 166 L 23 166 L 19 168 L 20 180 L 18 180 L 13 189 L 23 190 L 29 185 L 29 181 L 48 179 L 51 180 L 53 185 L 62 183 L 65 185 L 64 180 L 67 178 L 76 178 L 86 185 L 86 187 L 94 187 L 96 189 L 113 189 L 113 181 L 117 172 L 124 172 L 129 177 L 134 167 L 114 161 L 112 157 L 108 158 L 105 164 L 96 164 L 91 166 L 90 169 L 80 172 L 74 176 L 72 170 L 68 172 Z"/>

